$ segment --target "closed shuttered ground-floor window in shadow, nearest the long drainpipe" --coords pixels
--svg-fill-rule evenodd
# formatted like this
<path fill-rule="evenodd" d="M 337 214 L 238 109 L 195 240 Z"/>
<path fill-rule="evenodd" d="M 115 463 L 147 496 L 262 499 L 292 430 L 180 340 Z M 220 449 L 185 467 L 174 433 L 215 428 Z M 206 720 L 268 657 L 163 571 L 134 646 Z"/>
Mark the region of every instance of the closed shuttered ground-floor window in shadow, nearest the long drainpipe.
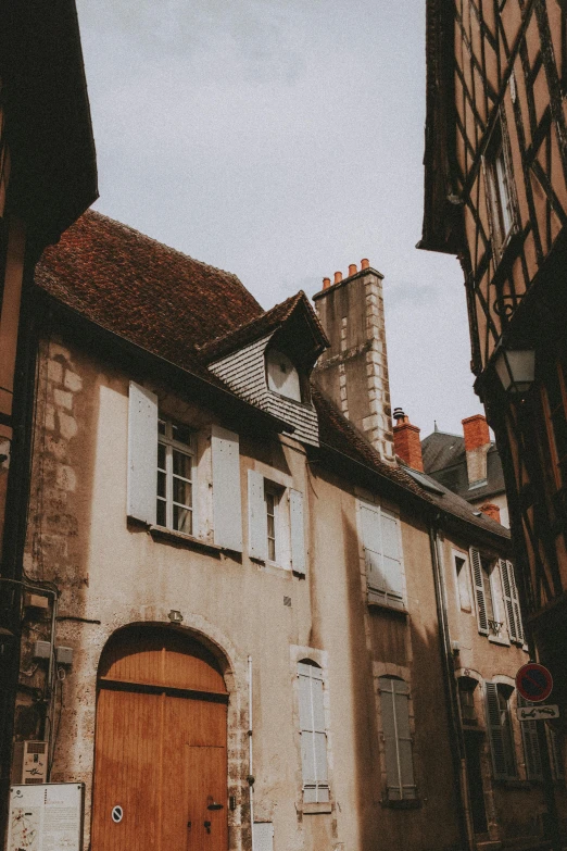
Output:
<path fill-rule="evenodd" d="M 380 677 L 380 706 L 386 756 L 387 797 L 404 801 L 416 797 L 412 737 L 410 734 L 410 688 L 398 677 Z"/>

